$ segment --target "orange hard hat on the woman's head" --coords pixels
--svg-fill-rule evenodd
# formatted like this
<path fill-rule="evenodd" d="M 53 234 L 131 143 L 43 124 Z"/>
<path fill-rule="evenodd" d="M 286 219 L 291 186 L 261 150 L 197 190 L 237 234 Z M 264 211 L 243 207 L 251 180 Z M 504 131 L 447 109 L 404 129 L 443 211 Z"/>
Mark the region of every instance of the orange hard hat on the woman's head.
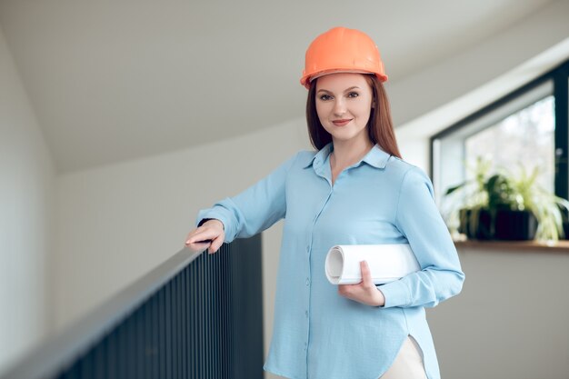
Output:
<path fill-rule="evenodd" d="M 308 46 L 300 84 L 310 88 L 318 76 L 332 73 L 375 74 L 380 82 L 387 80 L 384 63 L 374 40 L 356 29 L 334 27 Z"/>

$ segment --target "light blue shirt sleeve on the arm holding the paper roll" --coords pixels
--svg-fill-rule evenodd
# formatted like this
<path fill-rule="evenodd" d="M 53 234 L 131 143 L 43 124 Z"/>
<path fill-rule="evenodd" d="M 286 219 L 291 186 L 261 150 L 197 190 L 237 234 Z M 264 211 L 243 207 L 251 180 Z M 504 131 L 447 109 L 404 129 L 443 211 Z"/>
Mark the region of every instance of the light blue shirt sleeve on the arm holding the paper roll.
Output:
<path fill-rule="evenodd" d="M 433 193 L 422 170 L 413 167 L 405 173 L 395 224 L 422 270 L 379 287 L 385 296 L 384 307 L 432 307 L 462 290 L 464 273 Z"/>

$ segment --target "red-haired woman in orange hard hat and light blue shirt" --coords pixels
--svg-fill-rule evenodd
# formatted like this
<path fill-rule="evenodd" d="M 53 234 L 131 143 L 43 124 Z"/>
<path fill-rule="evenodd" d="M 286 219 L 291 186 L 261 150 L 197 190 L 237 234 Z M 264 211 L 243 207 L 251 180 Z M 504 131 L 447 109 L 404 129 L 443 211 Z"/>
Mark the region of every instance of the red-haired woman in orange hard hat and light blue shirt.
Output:
<path fill-rule="evenodd" d="M 464 274 L 430 180 L 401 159 L 379 51 L 338 27 L 306 51 L 301 84 L 317 152 L 294 155 L 245 192 L 200 212 L 186 245 L 215 253 L 284 218 L 275 329 L 265 370 L 289 378 L 439 378 L 424 315 Z M 209 243 L 200 243 L 209 240 Z M 329 284 L 336 244 L 410 244 L 421 271 L 375 286 Z"/>

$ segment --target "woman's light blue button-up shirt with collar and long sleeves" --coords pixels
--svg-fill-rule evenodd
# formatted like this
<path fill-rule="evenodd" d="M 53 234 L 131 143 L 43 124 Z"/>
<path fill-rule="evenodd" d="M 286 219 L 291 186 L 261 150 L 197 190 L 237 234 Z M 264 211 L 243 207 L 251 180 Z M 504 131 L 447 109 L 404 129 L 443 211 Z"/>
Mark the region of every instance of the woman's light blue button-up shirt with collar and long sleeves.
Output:
<path fill-rule="evenodd" d="M 301 151 L 243 193 L 200 211 L 216 218 L 225 242 L 284 218 L 275 326 L 265 370 L 294 379 L 377 379 L 407 335 L 440 377 L 424 307 L 458 294 L 458 255 L 424 172 L 374 147 L 332 185 L 332 143 Z M 422 270 L 379 286 L 385 305 L 344 298 L 324 274 L 335 244 L 410 244 Z"/>

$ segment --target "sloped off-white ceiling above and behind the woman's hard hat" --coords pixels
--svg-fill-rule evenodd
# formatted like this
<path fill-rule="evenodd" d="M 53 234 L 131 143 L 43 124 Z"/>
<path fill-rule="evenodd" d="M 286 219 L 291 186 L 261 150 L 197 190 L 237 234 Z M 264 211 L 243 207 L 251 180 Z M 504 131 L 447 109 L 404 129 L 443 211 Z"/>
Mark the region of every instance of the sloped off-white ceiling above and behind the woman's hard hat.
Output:
<path fill-rule="evenodd" d="M 0 1 L 0 25 L 61 172 L 304 115 L 304 50 L 363 30 L 390 83 L 492 38 L 547 0 Z"/>

